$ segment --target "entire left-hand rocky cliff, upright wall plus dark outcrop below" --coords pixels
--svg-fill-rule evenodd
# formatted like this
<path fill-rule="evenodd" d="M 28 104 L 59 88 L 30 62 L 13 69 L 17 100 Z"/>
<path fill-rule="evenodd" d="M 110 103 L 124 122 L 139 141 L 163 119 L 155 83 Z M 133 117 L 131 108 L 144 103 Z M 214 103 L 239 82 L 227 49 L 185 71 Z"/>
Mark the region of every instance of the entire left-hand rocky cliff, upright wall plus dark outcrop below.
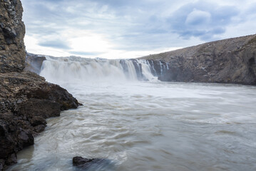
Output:
<path fill-rule="evenodd" d="M 24 71 L 25 27 L 20 0 L 0 0 L 0 170 L 16 163 L 16 153 L 34 144 L 46 118 L 79 103 L 67 90 Z"/>

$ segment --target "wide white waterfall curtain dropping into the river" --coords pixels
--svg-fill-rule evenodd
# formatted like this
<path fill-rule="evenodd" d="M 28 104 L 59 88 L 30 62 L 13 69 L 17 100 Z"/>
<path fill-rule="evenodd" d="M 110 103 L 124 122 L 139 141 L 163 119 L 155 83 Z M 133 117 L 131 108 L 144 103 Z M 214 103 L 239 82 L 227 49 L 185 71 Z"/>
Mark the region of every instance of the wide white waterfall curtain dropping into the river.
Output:
<path fill-rule="evenodd" d="M 41 76 L 53 83 L 102 81 L 158 81 L 147 60 L 46 57 Z"/>

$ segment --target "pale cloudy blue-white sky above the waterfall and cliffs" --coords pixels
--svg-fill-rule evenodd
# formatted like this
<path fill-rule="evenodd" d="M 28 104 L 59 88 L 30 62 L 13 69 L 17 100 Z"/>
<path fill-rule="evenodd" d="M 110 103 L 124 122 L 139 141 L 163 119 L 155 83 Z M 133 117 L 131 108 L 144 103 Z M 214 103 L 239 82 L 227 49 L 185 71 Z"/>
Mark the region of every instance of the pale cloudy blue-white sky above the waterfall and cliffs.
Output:
<path fill-rule="evenodd" d="M 26 51 L 138 58 L 256 33 L 256 0 L 21 0 Z"/>

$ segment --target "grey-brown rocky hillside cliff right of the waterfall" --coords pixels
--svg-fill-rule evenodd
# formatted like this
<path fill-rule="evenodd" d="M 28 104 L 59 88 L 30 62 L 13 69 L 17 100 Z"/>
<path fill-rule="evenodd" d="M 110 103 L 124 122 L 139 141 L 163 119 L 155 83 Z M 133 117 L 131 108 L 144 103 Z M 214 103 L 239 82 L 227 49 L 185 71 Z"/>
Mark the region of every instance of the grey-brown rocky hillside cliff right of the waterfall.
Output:
<path fill-rule="evenodd" d="M 144 59 L 165 61 L 160 81 L 256 85 L 256 35 L 213 41 Z"/>

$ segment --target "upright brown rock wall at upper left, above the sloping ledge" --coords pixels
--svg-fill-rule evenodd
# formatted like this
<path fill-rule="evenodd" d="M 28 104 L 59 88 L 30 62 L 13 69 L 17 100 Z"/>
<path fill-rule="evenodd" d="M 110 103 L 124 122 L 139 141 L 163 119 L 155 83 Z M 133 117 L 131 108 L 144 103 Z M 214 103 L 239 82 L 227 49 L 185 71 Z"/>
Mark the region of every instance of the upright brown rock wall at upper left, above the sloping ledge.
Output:
<path fill-rule="evenodd" d="M 21 1 L 0 1 L 0 73 L 20 72 L 25 67 L 22 12 Z"/>

